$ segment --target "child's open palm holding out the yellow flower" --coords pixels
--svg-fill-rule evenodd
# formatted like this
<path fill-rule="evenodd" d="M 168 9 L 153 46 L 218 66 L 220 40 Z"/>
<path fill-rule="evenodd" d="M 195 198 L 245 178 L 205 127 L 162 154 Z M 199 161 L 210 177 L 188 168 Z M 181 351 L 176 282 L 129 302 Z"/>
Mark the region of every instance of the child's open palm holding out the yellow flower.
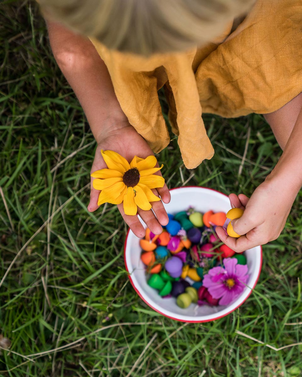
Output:
<path fill-rule="evenodd" d="M 96 170 L 105 169 L 107 167 L 101 155 L 101 149 L 114 150 L 115 152 L 125 157 L 128 162 L 131 162 L 135 155 L 141 158 L 146 158 L 147 156 L 154 155 L 151 148 L 146 143 L 145 139 L 143 139 L 143 137 L 136 132 L 134 127 L 132 127 L 129 123 L 126 122 L 121 124 L 120 127 L 115 127 L 113 130 L 106 133 L 106 136 L 101 136 L 100 138 L 98 138 L 97 143 L 98 146 L 91 167 L 91 173 L 95 172 Z M 158 163 L 156 166 L 159 167 Z M 162 175 L 160 171 L 156 172 L 155 174 L 160 176 Z M 90 201 L 88 204 L 89 212 L 93 212 L 97 208 L 99 208 L 99 206 L 97 205 L 97 200 L 99 198 L 100 191 L 94 189 L 94 187 L 92 186 L 92 181 L 94 179 L 95 178 L 91 177 Z M 166 184 L 162 188 L 152 189 L 152 192 L 156 196 L 160 196 L 164 203 L 169 203 L 171 195 Z M 160 234 L 162 232 L 161 225 L 166 225 L 169 221 L 168 215 L 166 213 L 165 208 L 163 207 L 162 201 L 152 202 L 152 209 L 149 211 L 144 211 L 138 208 L 138 214 L 146 223 L 147 227 L 154 234 Z M 119 208 L 119 211 L 123 216 L 123 219 L 129 225 L 133 233 L 137 237 L 144 237 L 145 229 L 143 228 L 143 225 L 140 223 L 137 215 L 125 215 L 123 203 L 117 205 L 117 208 Z"/>

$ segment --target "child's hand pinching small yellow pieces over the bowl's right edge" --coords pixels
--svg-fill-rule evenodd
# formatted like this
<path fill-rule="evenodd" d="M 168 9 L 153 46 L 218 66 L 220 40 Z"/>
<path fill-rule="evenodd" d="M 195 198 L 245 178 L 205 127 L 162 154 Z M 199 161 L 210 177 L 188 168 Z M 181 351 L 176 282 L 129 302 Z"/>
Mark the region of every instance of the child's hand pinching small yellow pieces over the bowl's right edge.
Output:
<path fill-rule="evenodd" d="M 241 218 L 232 220 L 234 231 L 242 236 L 227 236 L 222 227 L 216 228 L 217 235 L 237 253 L 277 239 L 296 195 L 287 185 L 269 178 L 257 187 L 250 199 L 243 194 L 230 194 L 231 206 L 244 209 Z"/>

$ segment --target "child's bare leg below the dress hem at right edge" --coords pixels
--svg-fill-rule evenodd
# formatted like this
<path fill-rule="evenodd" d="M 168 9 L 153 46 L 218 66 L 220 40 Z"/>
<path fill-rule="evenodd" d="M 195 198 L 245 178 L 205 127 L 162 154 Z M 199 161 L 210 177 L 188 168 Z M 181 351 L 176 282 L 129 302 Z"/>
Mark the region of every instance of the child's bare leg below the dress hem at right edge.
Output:
<path fill-rule="evenodd" d="M 302 106 L 302 93 L 272 113 L 263 114 L 279 146 L 284 150 Z"/>

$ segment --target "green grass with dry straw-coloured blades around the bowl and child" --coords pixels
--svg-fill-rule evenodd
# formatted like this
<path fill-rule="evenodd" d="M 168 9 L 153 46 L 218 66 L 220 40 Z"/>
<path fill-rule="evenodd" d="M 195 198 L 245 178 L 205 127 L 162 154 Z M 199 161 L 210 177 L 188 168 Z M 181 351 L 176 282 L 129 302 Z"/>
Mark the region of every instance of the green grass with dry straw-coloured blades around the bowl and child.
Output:
<path fill-rule="evenodd" d="M 203 324 L 154 312 L 128 281 L 116 206 L 86 210 L 96 144 L 37 6 L 6 1 L 0 12 L 0 334 L 11 340 L 0 375 L 300 376 L 301 345 L 267 345 L 302 342 L 302 193 L 242 307 Z M 251 195 L 281 154 L 269 126 L 203 118 L 214 157 L 185 169 L 171 135 L 157 156 L 168 187 Z"/>

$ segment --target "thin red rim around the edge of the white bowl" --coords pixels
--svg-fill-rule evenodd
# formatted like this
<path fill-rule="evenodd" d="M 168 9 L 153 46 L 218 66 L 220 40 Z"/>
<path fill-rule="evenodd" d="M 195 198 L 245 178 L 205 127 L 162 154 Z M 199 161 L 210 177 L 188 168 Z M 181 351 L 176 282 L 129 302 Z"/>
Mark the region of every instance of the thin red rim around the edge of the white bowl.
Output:
<path fill-rule="evenodd" d="M 218 191 L 218 190 L 214 190 L 214 189 L 210 189 L 208 187 L 202 187 L 202 186 L 180 186 L 180 187 L 174 187 L 173 189 L 169 190 L 169 191 L 172 191 L 172 190 L 177 190 L 177 189 L 181 189 L 181 188 L 185 188 L 185 187 L 198 187 L 200 189 L 207 189 L 207 190 L 212 190 L 212 191 L 216 191 L 224 196 L 227 196 L 226 194 L 223 194 L 222 192 Z M 126 244 L 127 244 L 127 239 L 128 239 L 128 234 L 129 234 L 129 231 L 130 231 L 130 228 L 128 229 L 128 232 L 127 232 L 127 235 L 126 235 L 126 239 L 125 239 L 125 244 L 124 244 L 124 261 L 125 261 L 125 267 L 126 267 L 126 270 L 128 272 L 128 277 L 129 277 L 129 280 L 130 280 L 130 283 L 132 285 L 132 287 L 134 288 L 134 290 L 136 291 L 136 293 L 139 295 L 139 297 L 150 307 L 152 308 L 153 310 L 157 311 L 157 313 L 159 314 L 162 314 L 162 316 L 164 317 L 167 317 L 167 318 L 171 318 L 171 319 L 174 319 L 175 321 L 179 321 L 179 322 L 190 322 L 190 323 L 202 323 L 202 322 L 211 322 L 211 321 L 214 321 L 216 319 L 219 319 L 219 318 L 222 318 L 222 317 L 225 317 L 225 316 L 228 316 L 228 314 L 232 313 L 234 310 L 236 310 L 237 308 L 239 308 L 247 299 L 248 297 L 250 297 L 250 294 L 252 293 L 253 289 L 256 287 L 257 285 L 257 282 L 259 280 L 259 276 L 260 276 L 260 273 L 261 273 L 261 268 L 262 268 L 262 246 L 260 245 L 260 267 L 259 267 L 259 273 L 258 273 L 258 276 L 257 276 L 257 279 L 255 281 L 255 284 L 254 286 L 251 288 L 251 291 L 250 293 L 247 295 L 247 297 L 234 309 L 230 310 L 228 313 L 225 313 L 223 314 L 222 316 L 218 316 L 218 317 L 215 317 L 215 318 L 211 318 L 211 319 L 205 319 L 205 320 L 184 320 L 184 319 L 179 319 L 179 318 L 174 318 L 174 317 L 171 317 L 171 316 L 168 316 L 167 314 L 164 314 L 162 313 L 160 310 L 157 310 L 156 308 L 154 308 L 152 305 L 149 304 L 148 301 L 146 301 L 143 296 L 140 294 L 139 290 L 136 288 L 136 286 L 134 285 L 132 279 L 131 279 L 131 275 L 129 273 L 129 270 L 128 270 L 128 266 L 127 266 L 127 263 L 126 263 Z"/>

